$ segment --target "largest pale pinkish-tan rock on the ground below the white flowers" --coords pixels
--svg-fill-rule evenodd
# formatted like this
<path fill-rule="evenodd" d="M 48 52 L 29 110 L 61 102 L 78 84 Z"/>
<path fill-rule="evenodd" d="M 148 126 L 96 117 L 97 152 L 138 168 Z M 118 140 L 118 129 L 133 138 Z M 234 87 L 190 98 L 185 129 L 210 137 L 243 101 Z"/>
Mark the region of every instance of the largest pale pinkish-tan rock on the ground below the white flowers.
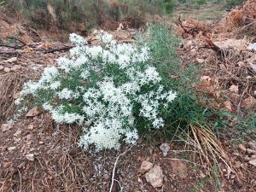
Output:
<path fill-rule="evenodd" d="M 163 184 L 164 174 L 160 166 L 154 166 L 149 172 L 145 174 L 146 180 L 154 188 L 159 188 Z"/>

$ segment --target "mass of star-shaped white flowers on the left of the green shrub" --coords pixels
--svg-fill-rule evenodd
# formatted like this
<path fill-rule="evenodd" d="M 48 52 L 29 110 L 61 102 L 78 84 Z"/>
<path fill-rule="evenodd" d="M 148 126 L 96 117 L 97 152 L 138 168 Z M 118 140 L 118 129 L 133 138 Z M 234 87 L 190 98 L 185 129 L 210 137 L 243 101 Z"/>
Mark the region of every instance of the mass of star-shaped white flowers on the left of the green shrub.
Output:
<path fill-rule="evenodd" d="M 84 126 L 79 146 L 96 150 L 136 143 L 137 117 L 148 127 L 164 126 L 160 108 L 169 108 L 176 97 L 165 90 L 156 68 L 148 65 L 147 46 L 119 44 L 112 35 L 98 32 L 101 45 L 90 46 L 77 34 L 69 57 L 58 67 L 44 69 L 38 82 L 27 82 L 16 104 L 33 101 L 48 111 L 56 123 Z"/>

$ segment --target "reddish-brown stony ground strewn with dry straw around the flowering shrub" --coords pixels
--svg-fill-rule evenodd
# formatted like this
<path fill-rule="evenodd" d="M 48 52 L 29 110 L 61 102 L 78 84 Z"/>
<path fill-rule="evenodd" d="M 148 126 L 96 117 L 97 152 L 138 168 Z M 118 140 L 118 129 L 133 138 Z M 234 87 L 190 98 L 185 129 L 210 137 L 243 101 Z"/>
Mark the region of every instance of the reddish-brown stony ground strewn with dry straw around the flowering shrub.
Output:
<path fill-rule="evenodd" d="M 188 21 L 182 25 L 188 25 Z M 194 61 L 203 67 L 198 89 L 224 98 L 218 97 L 220 101 L 212 105 L 230 113 L 235 113 L 237 106 L 255 108 L 256 56 L 254 50 L 247 49 L 253 42 L 219 31 L 211 41 L 232 53 L 224 57 L 212 49 L 211 42 L 201 38 L 203 32 L 208 32 L 208 26 L 198 29 L 200 25 L 193 26 L 191 20 L 189 25 L 187 29 L 192 25 L 197 31 L 191 33 L 183 28 L 178 31 L 183 35 L 178 55 L 184 63 Z M 131 43 L 135 33 L 136 30 L 118 30 L 113 35 L 120 42 Z M 93 36 L 89 39 L 90 44 L 97 44 Z M 72 47 L 44 40 L 24 41 L 11 44 L 15 47 L 0 47 L 0 191 L 109 191 L 113 179 L 118 181 L 113 182 L 113 192 L 255 191 L 253 123 L 243 132 L 242 140 L 236 139 L 236 131 L 228 131 L 220 138 L 231 170 L 221 160 L 218 165 L 210 162 L 211 166 L 201 161 L 200 155 L 191 150 L 193 146 L 189 147 L 188 141 L 180 138 L 172 142 L 143 138 L 136 146 L 123 146 L 118 152 L 95 153 L 94 148 L 83 151 L 78 147 L 79 127 L 55 125 L 49 114 L 38 108 L 22 119 L 13 119 L 14 100 L 22 84 L 28 79 L 38 79 L 44 67 L 57 65 L 55 60 L 67 55 Z M 236 120 L 229 120 L 232 127 Z"/>

